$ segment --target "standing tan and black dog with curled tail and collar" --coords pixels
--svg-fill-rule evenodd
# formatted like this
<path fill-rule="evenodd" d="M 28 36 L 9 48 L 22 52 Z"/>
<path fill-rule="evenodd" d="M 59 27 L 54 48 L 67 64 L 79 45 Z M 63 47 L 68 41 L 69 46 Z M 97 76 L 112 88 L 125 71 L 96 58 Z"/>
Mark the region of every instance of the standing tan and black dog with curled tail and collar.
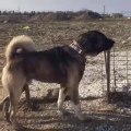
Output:
<path fill-rule="evenodd" d="M 16 123 L 15 115 L 23 88 L 31 80 L 38 80 L 61 85 L 58 97 L 58 109 L 63 114 L 66 95 L 70 95 L 75 115 L 83 120 L 79 83 L 85 69 L 85 57 L 96 56 L 114 46 L 114 40 L 98 31 L 81 34 L 69 46 L 55 47 L 49 50 L 36 51 L 28 36 L 14 37 L 5 51 L 7 64 L 2 72 L 3 87 L 10 97 L 9 119 Z"/>

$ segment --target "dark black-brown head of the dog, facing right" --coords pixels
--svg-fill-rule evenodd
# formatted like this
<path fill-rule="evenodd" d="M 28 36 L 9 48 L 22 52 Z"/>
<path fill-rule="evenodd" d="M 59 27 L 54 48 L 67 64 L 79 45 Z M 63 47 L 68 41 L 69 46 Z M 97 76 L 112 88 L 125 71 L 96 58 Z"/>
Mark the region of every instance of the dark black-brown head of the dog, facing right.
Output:
<path fill-rule="evenodd" d="M 90 56 L 96 56 L 102 51 L 109 50 L 115 44 L 112 39 L 107 38 L 98 31 L 90 31 L 81 34 L 76 41 L 84 53 Z"/>

